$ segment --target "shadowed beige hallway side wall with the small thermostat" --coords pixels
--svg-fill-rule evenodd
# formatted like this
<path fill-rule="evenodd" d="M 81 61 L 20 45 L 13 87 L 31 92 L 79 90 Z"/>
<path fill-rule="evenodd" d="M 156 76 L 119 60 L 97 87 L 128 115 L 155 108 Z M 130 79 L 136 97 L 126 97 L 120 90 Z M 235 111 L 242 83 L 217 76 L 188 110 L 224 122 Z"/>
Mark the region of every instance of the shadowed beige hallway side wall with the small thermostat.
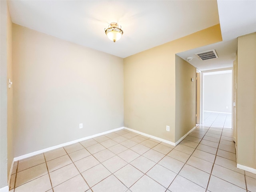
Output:
<path fill-rule="evenodd" d="M 196 68 L 175 56 L 175 142 L 196 126 Z M 194 81 L 191 81 L 191 78 Z"/>

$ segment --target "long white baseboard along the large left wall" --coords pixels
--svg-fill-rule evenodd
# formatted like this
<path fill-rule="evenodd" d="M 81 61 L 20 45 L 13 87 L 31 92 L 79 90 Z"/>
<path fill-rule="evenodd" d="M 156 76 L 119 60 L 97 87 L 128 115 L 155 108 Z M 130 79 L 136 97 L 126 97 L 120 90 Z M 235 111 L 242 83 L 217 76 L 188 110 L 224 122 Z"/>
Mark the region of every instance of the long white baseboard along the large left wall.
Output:
<path fill-rule="evenodd" d="M 25 155 L 14 157 L 13 161 L 15 162 L 15 161 L 22 160 L 22 159 L 25 159 L 25 158 L 28 158 L 28 157 L 32 157 L 32 156 L 35 156 L 35 155 L 38 155 L 38 154 L 41 154 L 41 153 L 45 153 L 45 152 L 48 152 L 48 151 L 51 151 L 51 150 L 54 150 L 54 149 L 58 149 L 60 147 L 68 146 L 68 145 L 71 145 L 71 144 L 74 144 L 74 143 L 77 143 L 77 142 L 80 142 L 80 141 L 84 141 L 84 140 L 91 139 L 91 138 L 98 137 L 98 136 L 102 136 L 104 134 L 108 134 L 108 133 L 111 133 L 111 132 L 114 132 L 114 131 L 118 131 L 118 130 L 121 130 L 123 128 L 124 127 L 112 129 L 112 130 L 105 131 L 105 132 L 102 132 L 102 133 L 98 133 L 98 134 L 95 134 L 95 135 L 92 135 L 92 136 L 87 136 L 87 137 L 80 138 L 80 139 L 77 139 L 77 140 L 74 140 L 74 141 L 62 143 L 62 144 L 59 144 L 59 145 L 56 145 L 56 146 L 48 147 L 48 148 L 38 150 L 38 151 L 35 151 L 35 152 L 32 152 L 32 153 L 28 153 L 28 154 L 25 154 Z"/>

